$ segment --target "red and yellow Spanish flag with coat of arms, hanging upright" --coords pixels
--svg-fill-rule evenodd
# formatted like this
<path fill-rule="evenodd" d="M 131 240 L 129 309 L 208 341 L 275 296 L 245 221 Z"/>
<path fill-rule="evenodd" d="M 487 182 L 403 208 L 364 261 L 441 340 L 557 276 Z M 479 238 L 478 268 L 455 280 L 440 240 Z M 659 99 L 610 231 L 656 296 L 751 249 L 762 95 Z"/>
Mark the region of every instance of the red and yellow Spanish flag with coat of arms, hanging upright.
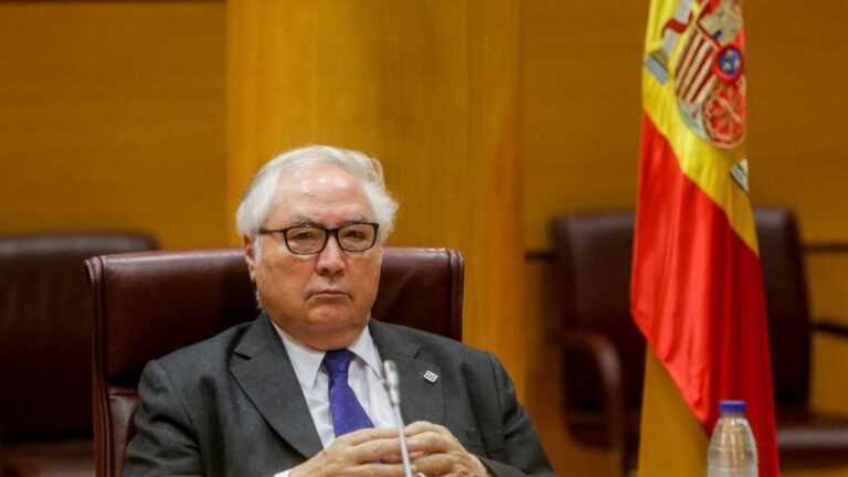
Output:
<path fill-rule="evenodd" d="M 642 476 L 703 476 L 719 401 L 741 399 L 778 475 L 762 272 L 749 200 L 741 0 L 654 0 L 632 311 L 648 341 Z"/>

